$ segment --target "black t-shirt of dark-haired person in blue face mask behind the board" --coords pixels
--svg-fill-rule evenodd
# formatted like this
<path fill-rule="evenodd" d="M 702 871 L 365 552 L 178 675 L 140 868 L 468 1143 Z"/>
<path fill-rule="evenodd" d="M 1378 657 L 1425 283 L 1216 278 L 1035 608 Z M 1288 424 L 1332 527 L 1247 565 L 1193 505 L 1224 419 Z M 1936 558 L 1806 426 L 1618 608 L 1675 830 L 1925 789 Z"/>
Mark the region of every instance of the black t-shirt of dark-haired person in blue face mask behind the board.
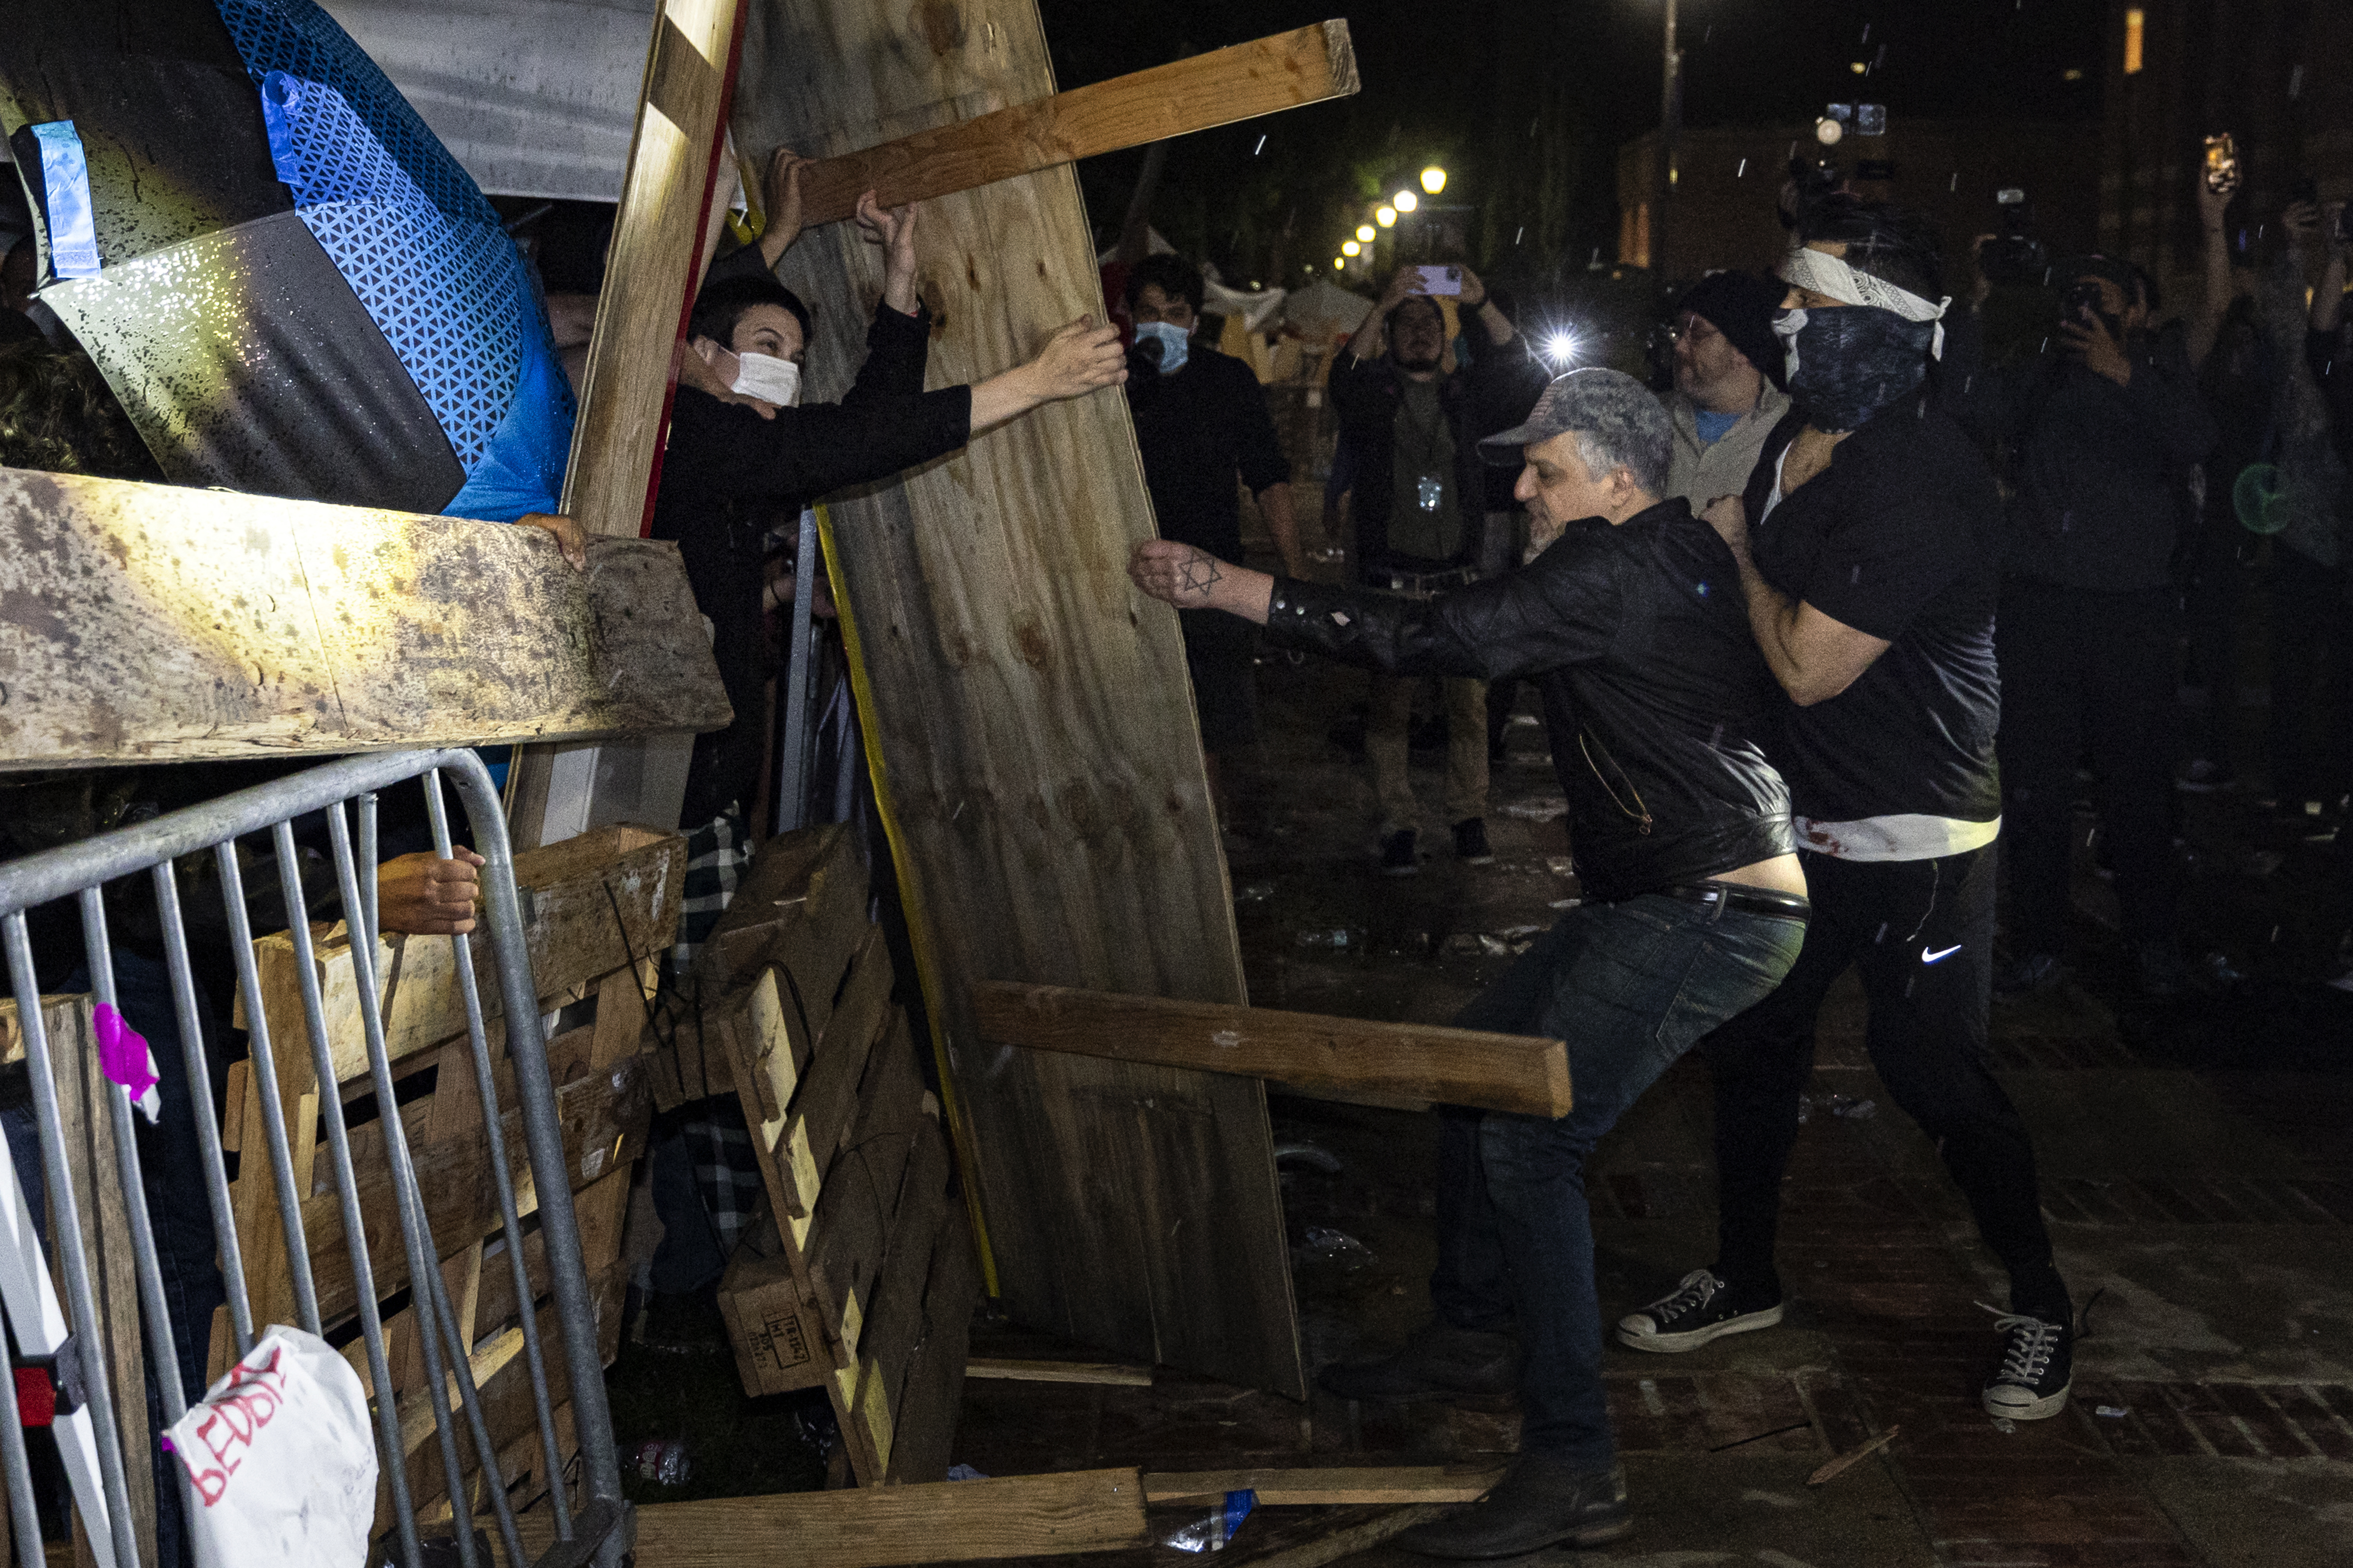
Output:
<path fill-rule="evenodd" d="M 1136 416 L 1160 538 L 1240 562 L 1242 501 L 1233 477 L 1240 475 L 1249 494 L 1292 477 L 1257 374 L 1195 343 L 1174 376 L 1129 374 L 1127 407 Z"/>

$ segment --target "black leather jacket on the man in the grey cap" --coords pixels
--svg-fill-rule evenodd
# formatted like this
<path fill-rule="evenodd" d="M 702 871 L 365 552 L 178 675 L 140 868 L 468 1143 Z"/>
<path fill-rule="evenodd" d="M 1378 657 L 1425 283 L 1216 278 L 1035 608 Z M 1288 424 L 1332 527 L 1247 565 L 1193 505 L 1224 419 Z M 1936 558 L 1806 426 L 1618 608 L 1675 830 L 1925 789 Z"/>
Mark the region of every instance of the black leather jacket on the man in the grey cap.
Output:
<path fill-rule="evenodd" d="M 1739 567 L 1685 501 L 1572 522 L 1522 571 L 1438 599 L 1275 581 L 1268 635 L 1398 675 L 1544 691 L 1588 898 L 1619 903 L 1795 849 L 1765 759 L 1781 689 Z"/>

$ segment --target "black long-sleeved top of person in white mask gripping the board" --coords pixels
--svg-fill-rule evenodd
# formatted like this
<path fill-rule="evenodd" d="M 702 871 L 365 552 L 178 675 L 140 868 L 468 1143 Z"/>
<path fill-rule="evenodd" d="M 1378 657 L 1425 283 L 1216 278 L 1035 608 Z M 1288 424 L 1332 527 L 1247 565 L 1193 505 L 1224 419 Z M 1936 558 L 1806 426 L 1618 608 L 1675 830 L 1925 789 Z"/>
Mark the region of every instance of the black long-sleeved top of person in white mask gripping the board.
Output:
<path fill-rule="evenodd" d="M 760 783 L 765 689 L 774 672 L 760 609 L 769 524 L 831 491 L 929 463 L 972 437 L 972 388 L 922 390 L 929 324 L 927 310 L 901 315 L 875 306 L 866 364 L 838 404 L 760 418 L 744 404 L 678 388 L 654 538 L 678 541 L 734 705 L 727 729 L 694 741 L 685 827 L 708 823 L 729 802 L 751 806 Z"/>

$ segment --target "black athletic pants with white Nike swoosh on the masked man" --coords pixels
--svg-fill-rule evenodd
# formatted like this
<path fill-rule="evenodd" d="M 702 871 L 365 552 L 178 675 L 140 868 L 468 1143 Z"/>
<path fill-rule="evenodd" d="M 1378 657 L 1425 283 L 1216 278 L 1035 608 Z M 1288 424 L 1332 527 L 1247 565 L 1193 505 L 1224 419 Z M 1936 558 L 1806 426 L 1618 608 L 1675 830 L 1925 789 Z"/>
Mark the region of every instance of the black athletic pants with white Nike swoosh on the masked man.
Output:
<path fill-rule="evenodd" d="M 1814 1016 L 1857 964 L 1871 1004 L 1871 1065 L 1937 1140 L 1979 1234 L 2009 1269 L 2012 1312 L 2071 1321 L 2042 1225 L 2035 1150 L 1986 1067 L 1995 846 L 1937 860 L 1802 860 L 1814 919 L 1798 964 L 1774 994 L 1699 1046 L 1715 1074 L 1715 1272 L 1741 1305 L 1781 1298 L 1781 1173 L 1814 1067 Z M 1857 1241 L 1866 1234 L 1857 1227 Z"/>

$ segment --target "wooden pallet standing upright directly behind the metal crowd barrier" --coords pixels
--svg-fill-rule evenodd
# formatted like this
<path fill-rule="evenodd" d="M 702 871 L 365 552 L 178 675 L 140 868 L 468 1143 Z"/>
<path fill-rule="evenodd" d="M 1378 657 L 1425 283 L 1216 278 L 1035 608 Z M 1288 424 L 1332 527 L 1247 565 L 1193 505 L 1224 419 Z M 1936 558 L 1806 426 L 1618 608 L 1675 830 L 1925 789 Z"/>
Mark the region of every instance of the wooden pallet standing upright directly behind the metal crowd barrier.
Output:
<path fill-rule="evenodd" d="M 685 867 L 685 839 L 626 825 L 600 827 L 515 856 L 515 884 L 522 891 L 525 936 L 541 1006 L 558 1011 L 588 997 L 595 999 L 586 1025 L 548 1039 L 548 1072 L 555 1086 L 581 1258 L 591 1295 L 598 1302 L 600 1349 L 607 1366 L 619 1352 L 621 1295 L 628 1288 L 621 1229 L 628 1211 L 631 1166 L 645 1150 L 652 1119 L 647 1074 L 638 1048 L 656 964 L 675 938 Z M 452 1488 L 440 1443 L 433 1439 L 416 1312 L 407 1305 L 407 1253 L 393 1218 L 384 1121 L 367 1070 L 351 938 L 344 926 L 315 926 L 313 943 L 327 1001 L 327 1037 L 336 1070 L 334 1093 L 344 1103 L 351 1131 L 353 1173 L 367 1218 L 369 1269 L 379 1312 L 384 1312 L 409 1495 L 419 1516 L 431 1523 L 449 1516 Z M 311 1067 L 294 943 L 287 933 L 266 936 L 254 943 L 254 952 L 294 1152 L 294 1180 L 304 1192 L 304 1239 L 320 1316 L 329 1326 L 329 1340 L 348 1335 L 344 1354 L 358 1368 L 360 1380 L 372 1385 L 367 1347 L 358 1333 L 358 1295 L 344 1246 L 334 1161 L 322 1147 L 320 1084 Z M 433 1251 L 442 1262 L 459 1331 L 471 1347 L 468 1361 L 482 1392 L 492 1443 L 499 1448 L 501 1479 L 513 1505 L 522 1509 L 546 1495 L 551 1483 L 536 1434 L 529 1363 L 522 1356 L 522 1312 L 536 1314 L 562 1453 L 572 1455 L 576 1448 L 560 1333 L 548 1302 L 546 1258 L 532 1220 L 539 1201 L 513 1088 L 515 1065 L 501 1053 L 494 1063 L 494 1081 L 515 1206 L 525 1227 L 529 1302 L 515 1298 L 513 1265 L 506 1258 L 508 1239 L 487 1171 L 489 1135 L 464 1034 L 466 1013 L 456 987 L 452 943 L 449 938 L 384 938 L 376 952 L 376 973 L 384 990 L 384 1032 L 393 1058 L 400 1124 L 407 1131 L 433 1227 Z M 504 1018 L 492 973 L 489 945 L 478 933 L 478 992 L 496 1048 L 504 1044 Z M 224 1145 L 240 1157 L 238 1175 L 231 1182 L 231 1206 L 238 1241 L 245 1248 L 254 1321 L 256 1326 L 287 1324 L 294 1321 L 292 1274 L 278 1222 L 278 1192 L 266 1143 L 259 1135 L 261 1093 L 249 1063 L 238 1063 L 231 1070 L 226 1107 Z M 212 1375 L 228 1366 L 233 1349 L 224 1309 L 214 1316 L 212 1328 Z M 459 1493 L 466 1497 L 468 1512 L 478 1512 L 487 1507 L 487 1497 L 475 1472 L 471 1434 L 461 1434 L 459 1446 L 468 1465 Z M 379 1486 L 376 1502 L 376 1526 L 386 1528 L 391 1523 L 388 1486 Z"/>

